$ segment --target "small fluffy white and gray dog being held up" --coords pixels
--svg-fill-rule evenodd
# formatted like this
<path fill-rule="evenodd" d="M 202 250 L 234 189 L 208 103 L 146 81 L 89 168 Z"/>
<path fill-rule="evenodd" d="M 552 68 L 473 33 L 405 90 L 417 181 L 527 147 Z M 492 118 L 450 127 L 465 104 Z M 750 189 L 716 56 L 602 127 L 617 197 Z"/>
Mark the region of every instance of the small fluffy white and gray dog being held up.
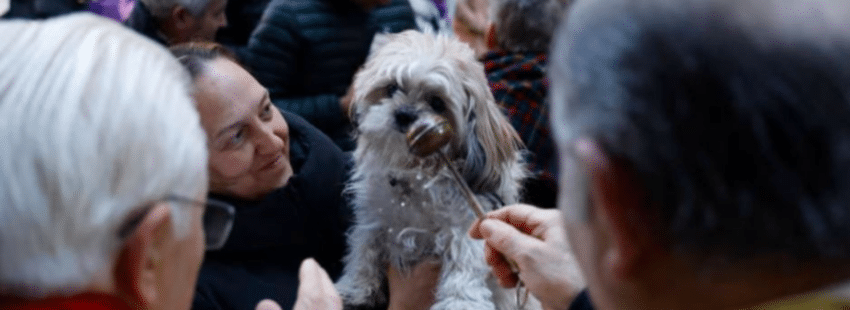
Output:
<path fill-rule="evenodd" d="M 496 106 L 482 65 L 466 44 L 406 31 L 390 35 L 354 80 L 357 123 L 356 224 L 336 287 L 348 307 L 387 301 L 389 264 L 402 273 L 436 260 L 442 271 L 432 309 L 516 308 L 515 291 L 498 287 L 483 242 L 467 230 L 475 214 L 436 155 L 411 153 L 406 132 L 429 115 L 448 120 L 442 152 L 490 211 L 515 203 L 527 172 L 521 142 Z"/>

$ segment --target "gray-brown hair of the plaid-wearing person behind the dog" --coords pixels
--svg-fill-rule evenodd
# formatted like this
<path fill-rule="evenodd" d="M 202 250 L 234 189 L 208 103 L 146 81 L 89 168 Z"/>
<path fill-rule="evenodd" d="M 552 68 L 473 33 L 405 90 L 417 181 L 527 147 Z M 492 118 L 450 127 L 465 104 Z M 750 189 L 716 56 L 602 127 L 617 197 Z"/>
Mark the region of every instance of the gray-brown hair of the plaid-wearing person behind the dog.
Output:
<path fill-rule="evenodd" d="M 489 0 L 499 47 L 511 53 L 547 52 L 552 33 L 574 0 Z"/>

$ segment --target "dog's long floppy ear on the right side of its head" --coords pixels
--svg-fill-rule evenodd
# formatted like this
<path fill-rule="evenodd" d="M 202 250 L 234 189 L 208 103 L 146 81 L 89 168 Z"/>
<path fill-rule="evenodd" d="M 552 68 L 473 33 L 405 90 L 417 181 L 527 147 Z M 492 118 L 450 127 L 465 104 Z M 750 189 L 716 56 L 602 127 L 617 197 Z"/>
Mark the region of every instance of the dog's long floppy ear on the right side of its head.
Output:
<path fill-rule="evenodd" d="M 519 150 L 522 141 L 493 99 L 478 62 L 461 62 L 465 74 L 463 88 L 467 95 L 467 124 L 471 128 L 466 136 L 466 163 L 464 177 L 476 192 L 498 191 L 521 178 L 513 174 L 520 169 Z M 510 197 L 503 197 L 510 199 Z"/>

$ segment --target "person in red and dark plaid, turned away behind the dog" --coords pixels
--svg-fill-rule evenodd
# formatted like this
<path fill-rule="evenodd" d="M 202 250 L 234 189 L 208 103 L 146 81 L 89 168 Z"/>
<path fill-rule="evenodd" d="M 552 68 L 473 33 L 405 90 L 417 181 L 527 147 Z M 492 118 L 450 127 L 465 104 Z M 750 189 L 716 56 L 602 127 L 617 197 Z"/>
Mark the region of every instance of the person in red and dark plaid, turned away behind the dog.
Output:
<path fill-rule="evenodd" d="M 519 133 L 533 175 L 522 202 L 554 208 L 558 183 L 549 133 L 546 54 L 552 33 L 572 0 L 489 0 L 484 70 L 493 97 Z"/>

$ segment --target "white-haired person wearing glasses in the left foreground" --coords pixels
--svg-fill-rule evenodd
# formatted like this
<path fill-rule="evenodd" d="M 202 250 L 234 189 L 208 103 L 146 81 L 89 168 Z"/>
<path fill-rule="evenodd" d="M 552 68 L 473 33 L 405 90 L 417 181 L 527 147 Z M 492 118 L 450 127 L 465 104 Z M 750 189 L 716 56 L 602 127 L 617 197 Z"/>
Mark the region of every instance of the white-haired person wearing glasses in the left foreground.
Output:
<path fill-rule="evenodd" d="M 206 200 L 188 75 L 90 14 L 0 37 L 0 309 L 189 309 L 234 213 Z M 315 279 L 302 291 L 332 285 Z"/>

